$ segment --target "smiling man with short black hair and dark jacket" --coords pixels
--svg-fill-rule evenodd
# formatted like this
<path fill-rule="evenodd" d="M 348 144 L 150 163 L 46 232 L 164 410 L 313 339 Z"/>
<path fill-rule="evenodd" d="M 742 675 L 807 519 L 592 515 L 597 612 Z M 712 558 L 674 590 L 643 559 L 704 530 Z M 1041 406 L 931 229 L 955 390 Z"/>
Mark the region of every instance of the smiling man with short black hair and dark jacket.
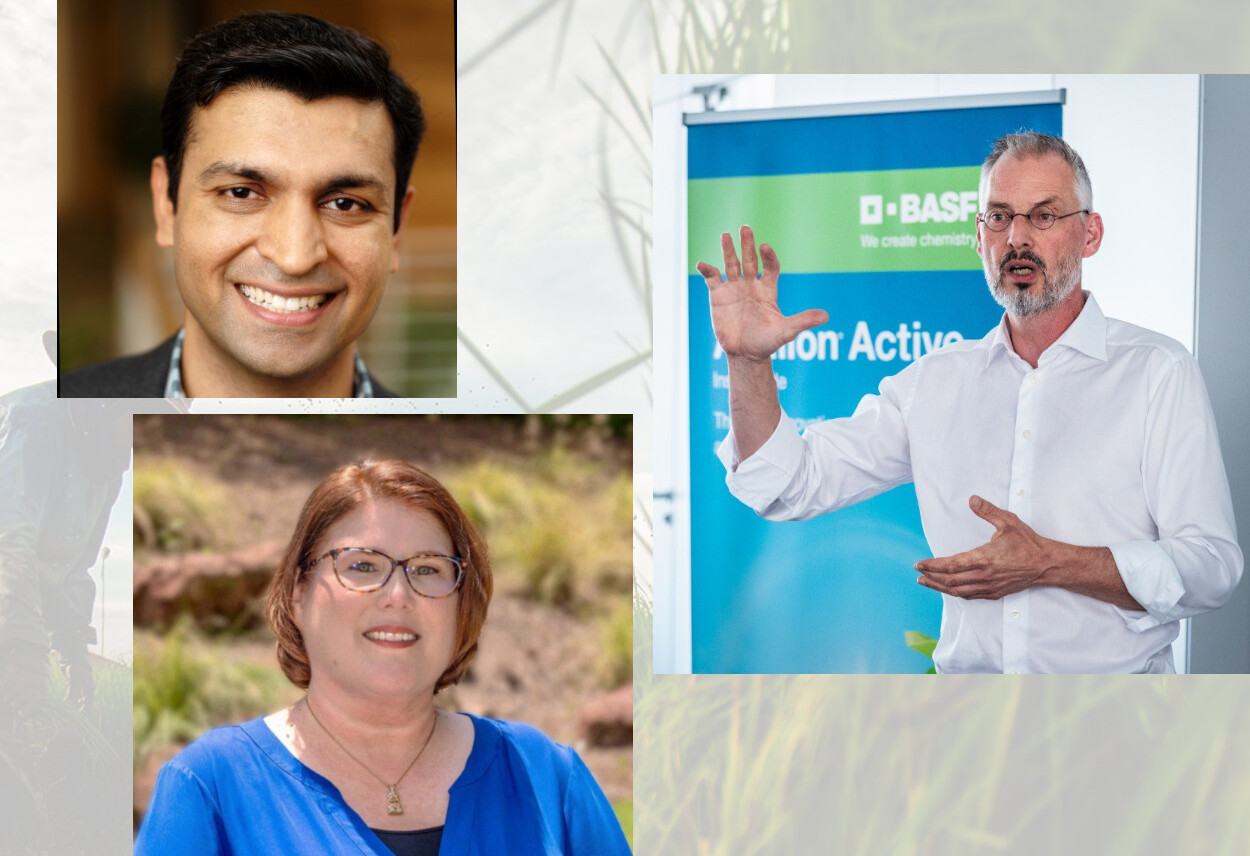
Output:
<path fill-rule="evenodd" d="M 424 131 L 386 51 L 308 15 L 249 12 L 182 51 L 152 161 L 184 327 L 61 376 L 61 396 L 391 396 L 355 350 L 399 269 Z"/>

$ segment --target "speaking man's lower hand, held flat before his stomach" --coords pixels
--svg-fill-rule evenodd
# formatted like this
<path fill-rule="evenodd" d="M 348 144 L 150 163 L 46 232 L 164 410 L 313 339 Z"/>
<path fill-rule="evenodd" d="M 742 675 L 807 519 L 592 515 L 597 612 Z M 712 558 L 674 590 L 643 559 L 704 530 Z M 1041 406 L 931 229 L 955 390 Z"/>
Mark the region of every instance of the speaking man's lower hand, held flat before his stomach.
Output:
<path fill-rule="evenodd" d="M 945 559 L 925 559 L 915 569 L 918 582 L 944 595 L 998 600 L 1039 585 L 1056 564 L 1058 542 L 1044 539 L 1016 515 L 972 496 L 968 505 L 994 526 L 988 544 Z"/>

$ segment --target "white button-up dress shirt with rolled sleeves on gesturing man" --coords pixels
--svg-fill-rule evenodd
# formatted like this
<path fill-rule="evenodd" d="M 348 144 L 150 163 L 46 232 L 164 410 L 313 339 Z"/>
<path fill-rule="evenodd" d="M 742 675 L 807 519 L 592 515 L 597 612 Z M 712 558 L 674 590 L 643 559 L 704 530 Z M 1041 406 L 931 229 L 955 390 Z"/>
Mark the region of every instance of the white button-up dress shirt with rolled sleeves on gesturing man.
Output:
<path fill-rule="evenodd" d="M 1108 546 L 1145 611 L 1038 586 L 942 595 L 939 672 L 1171 672 L 1179 619 L 1241 576 L 1232 501 L 1198 362 L 1166 336 L 1108 319 L 1092 296 L 1032 369 L 1006 317 L 881 381 L 854 415 L 789 416 L 748 460 L 719 451 L 730 491 L 769 520 L 805 520 L 914 481 L 935 556 L 990 540 L 972 494 L 1039 535 Z M 922 559 L 924 556 L 916 556 Z M 910 569 L 900 569 L 910 572 Z"/>

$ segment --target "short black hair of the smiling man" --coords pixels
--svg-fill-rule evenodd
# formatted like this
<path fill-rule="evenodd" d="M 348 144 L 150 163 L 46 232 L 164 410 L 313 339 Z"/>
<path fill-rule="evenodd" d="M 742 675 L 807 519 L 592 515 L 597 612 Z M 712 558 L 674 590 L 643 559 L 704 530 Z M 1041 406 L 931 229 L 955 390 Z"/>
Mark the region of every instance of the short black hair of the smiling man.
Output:
<path fill-rule="evenodd" d="M 395 74 L 386 50 L 355 30 L 310 15 L 245 12 L 199 34 L 174 69 L 160 111 L 169 200 L 178 185 L 194 107 L 240 85 L 279 89 L 312 101 L 346 95 L 381 101 L 395 131 L 395 230 L 425 116 L 416 92 Z"/>

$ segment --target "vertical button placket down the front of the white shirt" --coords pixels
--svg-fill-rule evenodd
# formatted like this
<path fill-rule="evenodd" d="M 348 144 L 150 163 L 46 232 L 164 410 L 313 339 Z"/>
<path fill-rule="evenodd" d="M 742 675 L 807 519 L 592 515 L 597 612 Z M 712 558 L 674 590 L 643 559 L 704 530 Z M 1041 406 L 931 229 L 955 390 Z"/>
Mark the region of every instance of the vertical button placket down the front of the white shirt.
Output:
<path fill-rule="evenodd" d="M 1011 481 L 1008 511 L 1028 522 L 1032 517 L 1032 487 L 1036 455 L 1034 426 L 1041 412 L 1041 381 L 1038 370 L 1021 379 L 1016 392 L 1016 430 L 1011 449 Z M 1002 599 L 1002 671 L 1029 671 L 1029 590 Z"/>

